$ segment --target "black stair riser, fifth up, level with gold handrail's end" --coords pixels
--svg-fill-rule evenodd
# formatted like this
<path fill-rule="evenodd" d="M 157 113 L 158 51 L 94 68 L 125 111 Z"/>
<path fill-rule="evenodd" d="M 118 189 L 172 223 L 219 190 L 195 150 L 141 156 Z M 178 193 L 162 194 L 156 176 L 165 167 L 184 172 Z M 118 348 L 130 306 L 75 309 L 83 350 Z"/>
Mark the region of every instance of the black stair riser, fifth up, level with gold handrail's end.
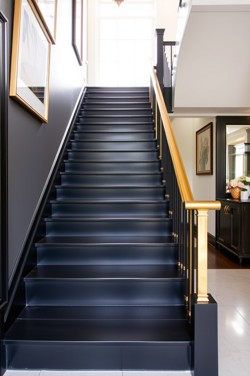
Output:
<path fill-rule="evenodd" d="M 52 203 L 52 215 L 168 215 L 169 203 Z"/>

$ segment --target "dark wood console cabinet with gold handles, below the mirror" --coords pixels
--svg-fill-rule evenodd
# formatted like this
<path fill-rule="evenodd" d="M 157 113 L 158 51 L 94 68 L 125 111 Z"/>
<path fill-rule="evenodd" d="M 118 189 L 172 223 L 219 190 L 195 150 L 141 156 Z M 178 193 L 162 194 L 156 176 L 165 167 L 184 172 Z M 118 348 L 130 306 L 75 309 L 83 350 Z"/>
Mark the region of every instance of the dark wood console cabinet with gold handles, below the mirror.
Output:
<path fill-rule="evenodd" d="M 239 259 L 250 258 L 250 199 L 217 199 L 222 207 L 217 211 L 217 244 Z"/>

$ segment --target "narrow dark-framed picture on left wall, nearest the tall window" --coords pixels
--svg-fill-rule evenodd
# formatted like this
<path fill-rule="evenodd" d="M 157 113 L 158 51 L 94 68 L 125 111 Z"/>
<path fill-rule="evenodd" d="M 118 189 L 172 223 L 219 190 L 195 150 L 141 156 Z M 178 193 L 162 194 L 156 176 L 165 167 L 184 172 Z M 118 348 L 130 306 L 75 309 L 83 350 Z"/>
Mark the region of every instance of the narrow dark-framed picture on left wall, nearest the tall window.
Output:
<path fill-rule="evenodd" d="M 79 64 L 82 65 L 83 0 L 73 0 L 73 40 L 72 44 Z"/>

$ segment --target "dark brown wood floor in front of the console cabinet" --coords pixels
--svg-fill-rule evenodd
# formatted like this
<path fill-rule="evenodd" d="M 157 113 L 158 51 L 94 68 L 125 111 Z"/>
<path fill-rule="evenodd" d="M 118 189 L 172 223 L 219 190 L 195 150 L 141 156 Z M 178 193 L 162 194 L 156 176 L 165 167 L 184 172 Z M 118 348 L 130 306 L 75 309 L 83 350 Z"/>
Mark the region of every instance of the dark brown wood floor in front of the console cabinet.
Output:
<path fill-rule="evenodd" d="M 232 253 L 222 249 L 220 252 L 208 244 L 208 269 L 250 269 L 250 259 L 243 259 L 242 265 Z"/>

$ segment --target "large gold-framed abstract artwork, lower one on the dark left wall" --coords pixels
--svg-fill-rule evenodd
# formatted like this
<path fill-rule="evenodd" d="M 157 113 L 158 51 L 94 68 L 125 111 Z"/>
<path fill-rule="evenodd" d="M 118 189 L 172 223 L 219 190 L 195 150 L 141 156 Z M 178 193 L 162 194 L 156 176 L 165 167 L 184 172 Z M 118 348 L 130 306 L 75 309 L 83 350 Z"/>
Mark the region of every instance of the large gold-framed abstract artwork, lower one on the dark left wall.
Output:
<path fill-rule="evenodd" d="M 51 41 L 31 0 L 15 0 L 9 95 L 48 123 Z"/>

